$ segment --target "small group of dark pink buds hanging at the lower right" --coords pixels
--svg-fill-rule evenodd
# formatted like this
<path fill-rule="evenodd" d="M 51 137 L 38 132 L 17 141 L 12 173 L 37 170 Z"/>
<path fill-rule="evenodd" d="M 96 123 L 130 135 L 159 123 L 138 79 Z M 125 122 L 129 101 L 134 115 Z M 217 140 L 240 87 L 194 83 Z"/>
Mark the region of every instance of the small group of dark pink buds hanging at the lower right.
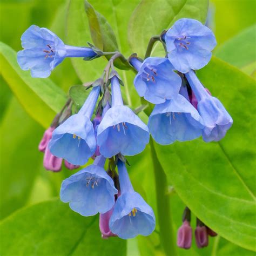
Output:
<path fill-rule="evenodd" d="M 190 226 L 191 212 L 187 207 L 183 214 L 183 224 L 178 230 L 177 245 L 180 248 L 189 249 L 192 242 L 192 227 Z M 198 248 L 208 246 L 208 236 L 215 237 L 217 233 L 207 227 L 202 221 L 197 218 L 197 227 L 194 232 L 196 244 Z"/>

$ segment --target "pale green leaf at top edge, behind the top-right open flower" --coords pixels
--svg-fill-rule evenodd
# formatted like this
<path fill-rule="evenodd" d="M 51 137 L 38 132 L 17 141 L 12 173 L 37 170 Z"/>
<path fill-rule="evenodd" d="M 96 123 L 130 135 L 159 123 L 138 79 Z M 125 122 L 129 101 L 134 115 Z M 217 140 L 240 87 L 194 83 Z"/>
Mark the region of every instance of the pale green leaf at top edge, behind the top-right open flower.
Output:
<path fill-rule="evenodd" d="M 180 18 L 194 18 L 204 23 L 207 8 L 207 0 L 142 0 L 129 23 L 129 42 L 133 52 L 143 57 L 150 38 L 169 29 Z"/>

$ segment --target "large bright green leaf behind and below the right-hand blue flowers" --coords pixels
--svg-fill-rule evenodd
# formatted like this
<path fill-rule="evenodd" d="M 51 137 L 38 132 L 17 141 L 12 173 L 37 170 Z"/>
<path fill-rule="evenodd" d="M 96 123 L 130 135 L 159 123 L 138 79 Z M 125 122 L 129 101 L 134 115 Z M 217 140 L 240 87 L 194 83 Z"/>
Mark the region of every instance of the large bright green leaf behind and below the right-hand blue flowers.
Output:
<path fill-rule="evenodd" d="M 194 214 L 225 239 L 255 250 L 255 82 L 217 58 L 197 74 L 234 124 L 219 143 L 155 144 L 157 156 Z"/>

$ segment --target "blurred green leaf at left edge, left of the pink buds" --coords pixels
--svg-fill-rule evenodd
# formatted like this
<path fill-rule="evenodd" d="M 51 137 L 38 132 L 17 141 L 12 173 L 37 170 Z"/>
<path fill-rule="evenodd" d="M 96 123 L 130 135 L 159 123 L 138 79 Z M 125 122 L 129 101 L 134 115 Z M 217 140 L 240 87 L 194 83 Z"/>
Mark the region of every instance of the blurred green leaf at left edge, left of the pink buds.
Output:
<path fill-rule="evenodd" d="M 25 205 L 42 165 L 38 143 L 43 129 L 13 97 L 1 126 L 0 206 L 4 218 Z"/>

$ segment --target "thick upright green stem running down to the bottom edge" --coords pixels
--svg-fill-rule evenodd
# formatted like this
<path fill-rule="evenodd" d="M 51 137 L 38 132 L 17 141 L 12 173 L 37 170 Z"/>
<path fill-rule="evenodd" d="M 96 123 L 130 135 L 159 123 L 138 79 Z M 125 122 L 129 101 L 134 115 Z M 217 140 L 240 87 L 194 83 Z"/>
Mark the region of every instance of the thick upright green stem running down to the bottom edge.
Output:
<path fill-rule="evenodd" d="M 154 179 L 157 193 L 157 212 L 160 230 L 160 242 L 168 256 L 177 255 L 174 241 L 172 218 L 170 211 L 170 197 L 167 195 L 167 181 L 163 167 L 159 163 L 152 138 L 150 138 L 151 154 L 154 166 Z"/>

